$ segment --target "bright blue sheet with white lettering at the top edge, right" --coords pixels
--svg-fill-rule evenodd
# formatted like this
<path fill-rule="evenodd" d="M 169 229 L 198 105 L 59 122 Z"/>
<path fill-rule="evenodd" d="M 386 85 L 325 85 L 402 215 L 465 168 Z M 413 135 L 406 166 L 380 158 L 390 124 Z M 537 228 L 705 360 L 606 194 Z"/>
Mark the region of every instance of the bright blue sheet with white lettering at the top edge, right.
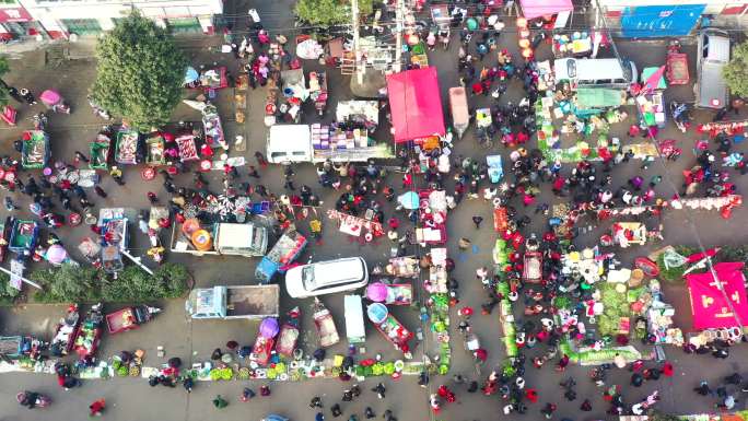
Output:
<path fill-rule="evenodd" d="M 706 4 L 642 5 L 626 8 L 621 15 L 623 36 L 658 38 L 688 35 Z"/>

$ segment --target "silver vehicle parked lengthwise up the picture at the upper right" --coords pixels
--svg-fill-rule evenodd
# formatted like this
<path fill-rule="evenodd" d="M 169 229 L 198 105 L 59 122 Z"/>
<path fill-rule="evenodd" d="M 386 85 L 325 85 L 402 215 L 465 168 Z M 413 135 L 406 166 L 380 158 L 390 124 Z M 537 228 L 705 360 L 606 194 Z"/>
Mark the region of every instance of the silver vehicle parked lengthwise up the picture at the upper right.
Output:
<path fill-rule="evenodd" d="M 729 61 L 729 34 L 708 27 L 699 32 L 697 57 L 698 80 L 696 106 L 700 108 L 723 108 L 727 105 L 727 84 L 722 69 Z"/>

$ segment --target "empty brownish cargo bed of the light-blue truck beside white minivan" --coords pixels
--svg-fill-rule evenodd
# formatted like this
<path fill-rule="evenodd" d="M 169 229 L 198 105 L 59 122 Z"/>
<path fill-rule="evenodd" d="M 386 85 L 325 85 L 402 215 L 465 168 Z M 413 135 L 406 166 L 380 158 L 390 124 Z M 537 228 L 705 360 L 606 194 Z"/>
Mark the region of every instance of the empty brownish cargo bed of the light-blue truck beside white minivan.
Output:
<path fill-rule="evenodd" d="M 226 317 L 278 316 L 280 295 L 278 285 L 229 286 L 226 294 Z"/>

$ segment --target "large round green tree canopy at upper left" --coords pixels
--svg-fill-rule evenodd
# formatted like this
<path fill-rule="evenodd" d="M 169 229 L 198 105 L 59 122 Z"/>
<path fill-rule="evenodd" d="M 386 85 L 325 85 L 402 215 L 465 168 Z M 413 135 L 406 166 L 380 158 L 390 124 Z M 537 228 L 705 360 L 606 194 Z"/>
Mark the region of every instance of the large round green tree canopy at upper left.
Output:
<path fill-rule="evenodd" d="M 166 30 L 133 12 L 96 45 L 94 101 L 139 129 L 162 126 L 182 100 L 187 59 Z"/>

